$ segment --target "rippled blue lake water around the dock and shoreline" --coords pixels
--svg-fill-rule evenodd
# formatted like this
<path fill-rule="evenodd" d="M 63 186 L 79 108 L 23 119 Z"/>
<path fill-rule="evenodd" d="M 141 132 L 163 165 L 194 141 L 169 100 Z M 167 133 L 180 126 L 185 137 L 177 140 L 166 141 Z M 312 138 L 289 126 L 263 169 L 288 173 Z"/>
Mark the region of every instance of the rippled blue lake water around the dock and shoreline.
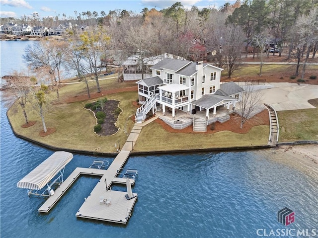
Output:
<path fill-rule="evenodd" d="M 23 67 L 27 44 L 0 42 L 1 76 Z M 317 229 L 318 171 L 298 161 L 289 165 L 278 150 L 132 156 L 125 167 L 138 169 L 132 187 L 138 200 L 127 225 L 76 218 L 98 181 L 90 176 L 81 176 L 49 214 L 41 214 L 45 200 L 29 198 L 16 183 L 54 151 L 15 137 L 2 103 L 0 110 L 1 238 L 253 238 L 257 229 Z M 64 178 L 92 159 L 75 154 Z M 284 207 L 296 214 L 288 227 L 277 222 Z"/>

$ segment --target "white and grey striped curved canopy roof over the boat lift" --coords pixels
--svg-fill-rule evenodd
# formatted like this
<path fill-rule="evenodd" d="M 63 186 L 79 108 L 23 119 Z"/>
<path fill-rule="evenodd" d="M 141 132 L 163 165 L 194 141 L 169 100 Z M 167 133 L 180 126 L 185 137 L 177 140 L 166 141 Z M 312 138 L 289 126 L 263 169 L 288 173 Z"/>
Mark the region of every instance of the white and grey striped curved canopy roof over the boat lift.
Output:
<path fill-rule="evenodd" d="M 48 159 L 45 159 L 29 174 L 17 182 L 18 188 L 42 189 L 58 172 L 60 172 L 71 160 L 73 154 L 65 151 L 57 151 Z"/>

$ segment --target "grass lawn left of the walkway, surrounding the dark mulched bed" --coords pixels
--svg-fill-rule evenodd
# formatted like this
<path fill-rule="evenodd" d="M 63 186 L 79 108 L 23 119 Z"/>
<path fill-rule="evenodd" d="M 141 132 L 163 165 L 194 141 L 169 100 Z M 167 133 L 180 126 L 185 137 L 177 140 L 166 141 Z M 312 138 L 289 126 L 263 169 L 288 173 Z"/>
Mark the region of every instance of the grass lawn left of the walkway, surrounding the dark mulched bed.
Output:
<path fill-rule="evenodd" d="M 134 122 L 127 118 L 135 115 L 136 108 L 132 104 L 134 101 L 132 98 L 137 98 L 137 92 L 110 94 L 107 98 L 119 100 L 119 107 L 123 110 L 116 123 L 120 127 L 119 132 L 109 137 L 97 136 L 93 132 L 96 121 L 92 113 L 83 108 L 86 102 L 53 105 L 50 112 L 45 115 L 45 122 L 47 128 L 54 127 L 56 132 L 46 137 L 39 136 L 39 132 L 43 130 L 42 122 L 30 105 L 26 108 L 26 112 L 30 121 L 37 121 L 35 125 L 29 128 L 21 127 L 25 122 L 17 104 L 8 110 L 8 117 L 16 133 L 34 141 L 56 148 L 114 153 L 115 144 L 124 145 L 126 142 L 127 135 L 123 128 L 130 131 L 134 125 Z"/>

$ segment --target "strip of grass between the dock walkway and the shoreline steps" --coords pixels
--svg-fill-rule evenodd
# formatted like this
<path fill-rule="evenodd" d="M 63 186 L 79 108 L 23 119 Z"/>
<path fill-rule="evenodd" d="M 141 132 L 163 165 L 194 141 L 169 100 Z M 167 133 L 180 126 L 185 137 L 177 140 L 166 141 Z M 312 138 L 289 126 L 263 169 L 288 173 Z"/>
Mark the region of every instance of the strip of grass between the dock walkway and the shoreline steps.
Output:
<path fill-rule="evenodd" d="M 215 134 L 169 133 L 158 123 L 143 127 L 134 151 L 173 151 L 267 145 L 269 126 L 253 127 L 246 134 L 230 131 Z"/>

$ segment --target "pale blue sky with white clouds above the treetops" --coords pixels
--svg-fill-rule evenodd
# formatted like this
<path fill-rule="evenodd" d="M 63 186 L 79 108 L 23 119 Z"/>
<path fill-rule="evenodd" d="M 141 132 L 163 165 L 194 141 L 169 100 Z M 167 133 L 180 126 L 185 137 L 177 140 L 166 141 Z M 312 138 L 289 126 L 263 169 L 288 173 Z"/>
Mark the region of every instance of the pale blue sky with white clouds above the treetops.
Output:
<path fill-rule="evenodd" d="M 21 16 L 32 16 L 37 12 L 39 16 L 59 16 L 63 14 L 67 17 L 76 17 L 78 13 L 86 11 L 97 11 L 99 14 L 103 10 L 108 14 L 109 10 L 126 9 L 140 13 L 144 7 L 156 8 L 160 10 L 171 6 L 176 1 L 180 1 L 184 7 L 197 6 L 199 9 L 219 8 L 225 2 L 231 4 L 235 0 L 0 0 L 0 17 L 21 18 Z"/>

